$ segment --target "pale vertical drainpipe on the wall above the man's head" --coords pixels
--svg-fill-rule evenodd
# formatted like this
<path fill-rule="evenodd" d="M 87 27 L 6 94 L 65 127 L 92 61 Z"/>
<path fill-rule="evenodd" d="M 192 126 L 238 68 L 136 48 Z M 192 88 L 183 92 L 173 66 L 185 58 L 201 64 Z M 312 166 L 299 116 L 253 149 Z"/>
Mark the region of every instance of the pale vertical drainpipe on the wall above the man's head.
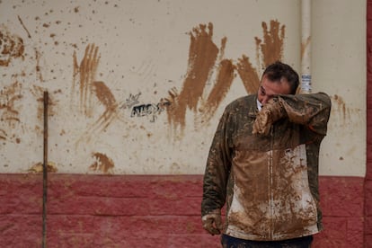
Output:
<path fill-rule="evenodd" d="M 311 0 L 301 0 L 300 93 L 311 93 Z"/>

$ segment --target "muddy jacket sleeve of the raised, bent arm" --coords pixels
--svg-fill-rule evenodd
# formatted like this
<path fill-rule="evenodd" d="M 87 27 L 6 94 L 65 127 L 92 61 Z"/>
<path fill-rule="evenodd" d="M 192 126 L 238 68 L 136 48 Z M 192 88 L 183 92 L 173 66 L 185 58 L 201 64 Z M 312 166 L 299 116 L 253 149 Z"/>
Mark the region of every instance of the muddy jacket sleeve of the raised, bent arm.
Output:
<path fill-rule="evenodd" d="M 331 112 L 331 99 L 326 93 L 279 95 L 278 98 L 291 122 L 326 135 Z"/>

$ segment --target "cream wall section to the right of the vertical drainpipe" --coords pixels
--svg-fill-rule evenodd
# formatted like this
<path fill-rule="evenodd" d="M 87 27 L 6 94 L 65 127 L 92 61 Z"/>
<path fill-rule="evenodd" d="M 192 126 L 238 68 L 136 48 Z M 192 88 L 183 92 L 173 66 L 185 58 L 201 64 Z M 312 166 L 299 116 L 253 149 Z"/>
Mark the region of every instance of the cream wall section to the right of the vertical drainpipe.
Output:
<path fill-rule="evenodd" d="M 366 173 L 366 1 L 313 1 L 313 84 L 332 96 L 322 174 Z"/>

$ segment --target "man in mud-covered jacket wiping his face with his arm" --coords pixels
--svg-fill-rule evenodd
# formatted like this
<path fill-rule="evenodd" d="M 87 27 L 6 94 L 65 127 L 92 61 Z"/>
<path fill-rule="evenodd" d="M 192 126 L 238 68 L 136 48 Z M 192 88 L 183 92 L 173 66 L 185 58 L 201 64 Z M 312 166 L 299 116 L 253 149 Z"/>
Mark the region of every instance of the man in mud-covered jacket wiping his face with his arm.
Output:
<path fill-rule="evenodd" d="M 223 247 L 310 247 L 323 228 L 318 160 L 331 100 L 296 94 L 298 81 L 292 67 L 268 66 L 258 93 L 230 103 L 219 121 L 201 215 Z"/>

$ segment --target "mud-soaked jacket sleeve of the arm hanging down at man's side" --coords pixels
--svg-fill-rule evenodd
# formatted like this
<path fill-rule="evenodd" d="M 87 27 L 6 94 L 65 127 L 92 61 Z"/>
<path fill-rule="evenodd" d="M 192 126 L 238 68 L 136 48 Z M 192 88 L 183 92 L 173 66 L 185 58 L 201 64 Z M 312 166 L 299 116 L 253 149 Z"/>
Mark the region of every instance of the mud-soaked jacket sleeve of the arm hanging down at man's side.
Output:
<path fill-rule="evenodd" d="M 231 167 L 231 149 L 228 145 L 229 116 L 228 111 L 222 115 L 209 149 L 203 180 L 202 216 L 221 209 L 226 201 L 226 183 Z"/>

